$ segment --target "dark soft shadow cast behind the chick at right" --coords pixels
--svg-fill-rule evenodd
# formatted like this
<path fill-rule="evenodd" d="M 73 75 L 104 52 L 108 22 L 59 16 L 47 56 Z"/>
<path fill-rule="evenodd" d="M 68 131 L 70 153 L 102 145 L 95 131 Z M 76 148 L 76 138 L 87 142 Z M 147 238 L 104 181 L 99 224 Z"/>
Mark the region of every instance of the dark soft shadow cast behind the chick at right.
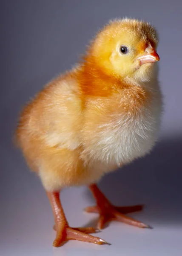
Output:
<path fill-rule="evenodd" d="M 182 224 L 181 160 L 182 138 L 166 139 L 151 154 L 103 177 L 99 187 L 114 204 L 145 204 L 144 212 L 132 214 L 142 221 Z M 86 196 L 93 204 L 88 190 Z"/>

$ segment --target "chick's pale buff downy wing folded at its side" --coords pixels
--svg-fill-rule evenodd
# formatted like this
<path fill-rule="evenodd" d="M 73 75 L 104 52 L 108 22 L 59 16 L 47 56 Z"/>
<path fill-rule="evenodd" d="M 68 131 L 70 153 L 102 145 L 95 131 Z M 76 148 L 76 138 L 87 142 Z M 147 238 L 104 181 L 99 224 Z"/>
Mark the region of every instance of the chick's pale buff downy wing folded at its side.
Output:
<path fill-rule="evenodd" d="M 39 137 L 48 146 L 73 150 L 80 145 L 81 111 L 75 79 L 57 78 L 25 108 L 19 131 Z"/>

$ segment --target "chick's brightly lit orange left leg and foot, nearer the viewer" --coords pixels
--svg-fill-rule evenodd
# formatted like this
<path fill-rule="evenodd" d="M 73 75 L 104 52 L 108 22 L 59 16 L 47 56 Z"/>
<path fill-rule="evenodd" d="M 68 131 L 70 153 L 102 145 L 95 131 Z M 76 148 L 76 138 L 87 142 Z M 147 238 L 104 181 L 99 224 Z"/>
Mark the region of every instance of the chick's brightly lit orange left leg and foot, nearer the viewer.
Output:
<path fill-rule="evenodd" d="M 63 241 L 67 241 L 68 239 L 76 239 L 86 242 L 91 242 L 95 244 L 107 244 L 104 240 L 99 237 L 91 236 L 88 233 L 95 233 L 96 230 L 93 227 L 78 227 L 71 228 L 68 225 L 68 221 L 65 218 L 65 214 L 63 211 L 63 207 L 60 202 L 59 192 L 46 192 L 48 199 L 51 203 L 51 207 L 54 214 L 55 226 L 56 230 L 56 238 L 53 242 L 53 246 L 57 247 Z"/>

